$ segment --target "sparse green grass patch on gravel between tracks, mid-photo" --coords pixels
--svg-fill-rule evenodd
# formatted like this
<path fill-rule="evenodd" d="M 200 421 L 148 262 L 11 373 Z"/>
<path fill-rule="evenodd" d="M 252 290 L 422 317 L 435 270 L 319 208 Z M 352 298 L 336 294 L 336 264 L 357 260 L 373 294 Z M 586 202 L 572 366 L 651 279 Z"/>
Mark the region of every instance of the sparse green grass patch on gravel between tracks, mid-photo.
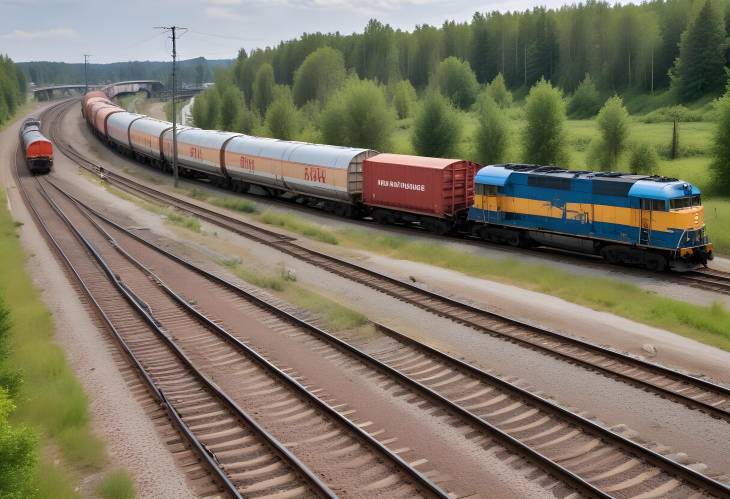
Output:
<path fill-rule="evenodd" d="M 277 272 L 271 273 L 251 269 L 243 265 L 239 258 L 226 259 L 219 263 L 244 281 L 268 289 L 289 303 L 317 314 L 332 332 L 355 330 L 368 324 L 367 317 L 361 313 L 296 284 L 296 277 L 283 266 Z"/>

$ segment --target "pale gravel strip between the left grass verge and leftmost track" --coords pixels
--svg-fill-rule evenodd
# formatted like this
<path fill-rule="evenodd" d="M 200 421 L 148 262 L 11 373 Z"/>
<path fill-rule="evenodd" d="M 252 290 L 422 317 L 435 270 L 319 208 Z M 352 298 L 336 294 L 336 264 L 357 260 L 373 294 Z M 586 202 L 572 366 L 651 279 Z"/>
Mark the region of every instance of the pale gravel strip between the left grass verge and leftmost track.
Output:
<path fill-rule="evenodd" d="M 110 467 L 131 473 L 139 497 L 195 497 L 155 425 L 129 391 L 116 348 L 94 325 L 23 205 L 10 170 L 15 166 L 18 125 L 16 122 L 0 134 L 0 157 L 5 164 L 0 181 L 13 217 L 24 224 L 20 240 L 30 255 L 27 269 L 54 315 L 56 341 L 89 397 L 92 425 L 106 442 Z M 70 170 L 68 163 L 56 154 L 57 169 Z"/>

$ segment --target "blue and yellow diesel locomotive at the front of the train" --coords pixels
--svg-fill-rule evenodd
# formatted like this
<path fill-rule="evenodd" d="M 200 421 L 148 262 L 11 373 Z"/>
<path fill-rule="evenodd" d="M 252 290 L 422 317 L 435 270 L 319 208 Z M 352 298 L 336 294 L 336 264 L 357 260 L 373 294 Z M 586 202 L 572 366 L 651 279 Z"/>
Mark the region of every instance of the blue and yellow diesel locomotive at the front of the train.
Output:
<path fill-rule="evenodd" d="M 700 191 L 672 178 L 486 166 L 476 175 L 468 218 L 485 240 L 589 252 L 651 270 L 712 259 Z"/>

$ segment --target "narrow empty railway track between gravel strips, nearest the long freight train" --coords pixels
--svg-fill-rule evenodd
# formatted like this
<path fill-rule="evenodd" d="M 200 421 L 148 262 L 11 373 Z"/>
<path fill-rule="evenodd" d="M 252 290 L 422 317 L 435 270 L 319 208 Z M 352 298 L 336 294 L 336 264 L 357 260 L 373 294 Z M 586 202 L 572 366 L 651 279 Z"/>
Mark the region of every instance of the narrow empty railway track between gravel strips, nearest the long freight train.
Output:
<path fill-rule="evenodd" d="M 67 109 L 61 109 L 61 113 Z M 353 282 L 393 296 L 435 315 L 469 326 L 494 337 L 506 339 L 526 348 L 538 350 L 586 369 L 603 373 L 624 382 L 671 398 L 689 407 L 730 421 L 730 388 L 690 376 L 588 341 L 539 328 L 518 320 L 482 310 L 414 284 L 400 281 L 351 262 L 332 257 L 298 244 L 293 238 L 258 227 L 240 219 L 209 210 L 198 204 L 143 185 L 118 173 L 104 170 L 88 160 L 58 134 L 59 120 L 51 125 L 51 137 L 62 152 L 79 166 L 112 185 L 134 195 L 166 206 L 173 206 L 193 216 L 229 229 L 254 241 L 275 247 L 294 258 L 310 263 Z M 704 275 L 704 273 L 702 273 Z"/>

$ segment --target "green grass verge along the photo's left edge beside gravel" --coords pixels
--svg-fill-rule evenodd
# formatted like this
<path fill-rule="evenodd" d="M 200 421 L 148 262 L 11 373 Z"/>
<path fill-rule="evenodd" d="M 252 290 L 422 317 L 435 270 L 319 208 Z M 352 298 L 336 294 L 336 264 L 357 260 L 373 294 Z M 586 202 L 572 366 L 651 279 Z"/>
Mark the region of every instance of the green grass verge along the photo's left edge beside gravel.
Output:
<path fill-rule="evenodd" d="M 90 426 L 88 399 L 53 339 L 53 316 L 25 271 L 17 224 L 0 193 L 0 294 L 11 312 L 9 367 L 23 379 L 13 420 L 31 425 L 44 444 L 60 450 L 75 472 L 100 469 L 106 462 L 103 442 Z M 63 489 L 55 464 L 41 460 L 35 470 L 39 490 Z M 72 473 L 75 473 L 72 472 Z"/>

